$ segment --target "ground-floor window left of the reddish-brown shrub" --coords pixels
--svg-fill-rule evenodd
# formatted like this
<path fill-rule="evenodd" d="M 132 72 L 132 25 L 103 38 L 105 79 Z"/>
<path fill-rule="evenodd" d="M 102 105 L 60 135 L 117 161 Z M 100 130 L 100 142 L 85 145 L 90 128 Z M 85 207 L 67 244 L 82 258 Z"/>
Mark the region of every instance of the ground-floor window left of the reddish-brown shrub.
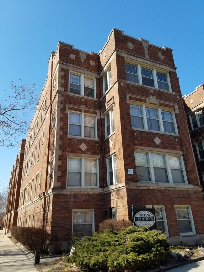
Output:
<path fill-rule="evenodd" d="M 94 231 L 94 210 L 73 210 L 73 232 L 81 231 L 83 236 L 90 236 Z"/>

